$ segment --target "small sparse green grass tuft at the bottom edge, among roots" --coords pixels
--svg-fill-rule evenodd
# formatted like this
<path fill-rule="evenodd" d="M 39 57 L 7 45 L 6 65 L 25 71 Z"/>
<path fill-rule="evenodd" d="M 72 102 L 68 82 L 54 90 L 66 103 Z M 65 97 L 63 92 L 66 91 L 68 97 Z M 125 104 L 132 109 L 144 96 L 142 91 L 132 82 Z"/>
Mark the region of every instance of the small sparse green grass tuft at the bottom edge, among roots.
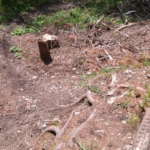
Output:
<path fill-rule="evenodd" d="M 91 141 L 88 144 L 83 145 L 81 140 L 78 140 L 77 144 L 79 146 L 79 150 L 94 150 L 95 148 L 97 148 L 97 143 L 92 145 Z"/>

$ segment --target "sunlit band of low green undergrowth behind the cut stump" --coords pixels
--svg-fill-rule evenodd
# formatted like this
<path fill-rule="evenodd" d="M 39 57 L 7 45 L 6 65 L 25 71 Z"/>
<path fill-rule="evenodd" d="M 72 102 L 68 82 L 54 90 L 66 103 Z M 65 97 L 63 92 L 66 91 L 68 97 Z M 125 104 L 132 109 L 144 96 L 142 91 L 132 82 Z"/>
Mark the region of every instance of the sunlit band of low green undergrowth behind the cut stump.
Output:
<path fill-rule="evenodd" d="M 43 25 L 54 25 L 57 29 L 68 30 L 73 26 L 84 29 L 88 22 L 94 22 L 98 19 L 96 10 L 91 8 L 87 11 L 84 8 L 75 8 L 69 11 L 61 10 L 52 13 L 50 16 L 39 15 L 37 18 L 26 22 L 25 28 L 17 27 L 11 32 L 12 35 L 22 35 L 25 33 L 40 32 Z"/>

